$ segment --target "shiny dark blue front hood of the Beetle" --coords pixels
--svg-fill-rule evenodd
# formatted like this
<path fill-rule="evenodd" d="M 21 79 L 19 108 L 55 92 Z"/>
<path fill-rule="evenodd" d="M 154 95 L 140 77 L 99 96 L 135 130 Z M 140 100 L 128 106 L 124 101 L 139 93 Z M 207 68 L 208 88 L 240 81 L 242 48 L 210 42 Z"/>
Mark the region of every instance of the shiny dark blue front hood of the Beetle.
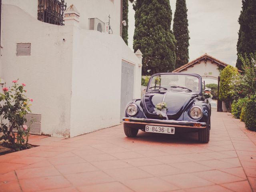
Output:
<path fill-rule="evenodd" d="M 158 118 L 159 116 L 154 112 L 154 108 L 156 104 L 165 102 L 168 108 L 166 112 L 168 118 L 177 120 L 186 109 L 186 106 L 196 96 L 197 94 L 194 92 L 174 90 L 146 92 L 142 98 L 142 104 L 145 108 L 145 115 L 148 118 Z"/>

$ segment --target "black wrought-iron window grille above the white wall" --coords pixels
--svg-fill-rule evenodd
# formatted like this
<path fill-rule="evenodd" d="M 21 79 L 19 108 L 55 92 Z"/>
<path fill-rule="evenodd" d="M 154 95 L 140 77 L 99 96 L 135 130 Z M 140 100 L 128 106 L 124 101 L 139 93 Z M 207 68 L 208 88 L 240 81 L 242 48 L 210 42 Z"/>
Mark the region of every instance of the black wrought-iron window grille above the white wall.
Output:
<path fill-rule="evenodd" d="M 38 0 L 38 20 L 54 25 L 64 25 L 63 15 L 67 8 L 64 0 Z"/>

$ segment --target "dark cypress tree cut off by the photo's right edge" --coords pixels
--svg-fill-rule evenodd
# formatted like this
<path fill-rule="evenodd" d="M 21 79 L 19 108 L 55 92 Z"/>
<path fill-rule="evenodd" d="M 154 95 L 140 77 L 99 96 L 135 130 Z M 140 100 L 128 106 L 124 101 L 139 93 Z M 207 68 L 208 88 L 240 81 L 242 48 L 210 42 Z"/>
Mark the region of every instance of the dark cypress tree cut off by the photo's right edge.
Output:
<path fill-rule="evenodd" d="M 237 55 L 256 52 L 256 0 L 242 0 L 242 11 L 238 22 Z M 237 58 L 236 67 L 242 70 L 242 62 Z"/>

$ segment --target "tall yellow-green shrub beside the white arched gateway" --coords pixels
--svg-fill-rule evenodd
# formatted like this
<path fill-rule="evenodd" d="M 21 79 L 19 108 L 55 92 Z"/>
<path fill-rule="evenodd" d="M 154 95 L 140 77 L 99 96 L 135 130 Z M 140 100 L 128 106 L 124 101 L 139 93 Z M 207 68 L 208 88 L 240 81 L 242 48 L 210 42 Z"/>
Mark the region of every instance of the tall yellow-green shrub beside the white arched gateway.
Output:
<path fill-rule="evenodd" d="M 238 70 L 231 65 L 226 66 L 220 73 L 219 99 L 230 103 L 233 100 L 234 86 L 233 82 L 238 79 Z"/>

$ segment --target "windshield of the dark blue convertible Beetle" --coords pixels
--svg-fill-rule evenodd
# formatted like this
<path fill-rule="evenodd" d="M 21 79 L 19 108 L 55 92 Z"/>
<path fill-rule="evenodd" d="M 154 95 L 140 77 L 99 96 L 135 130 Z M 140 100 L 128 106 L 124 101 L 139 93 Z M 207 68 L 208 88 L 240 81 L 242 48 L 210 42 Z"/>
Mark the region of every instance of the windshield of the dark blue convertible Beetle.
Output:
<path fill-rule="evenodd" d="M 162 74 L 153 76 L 148 90 L 184 89 L 199 91 L 199 78 L 183 74 Z"/>

